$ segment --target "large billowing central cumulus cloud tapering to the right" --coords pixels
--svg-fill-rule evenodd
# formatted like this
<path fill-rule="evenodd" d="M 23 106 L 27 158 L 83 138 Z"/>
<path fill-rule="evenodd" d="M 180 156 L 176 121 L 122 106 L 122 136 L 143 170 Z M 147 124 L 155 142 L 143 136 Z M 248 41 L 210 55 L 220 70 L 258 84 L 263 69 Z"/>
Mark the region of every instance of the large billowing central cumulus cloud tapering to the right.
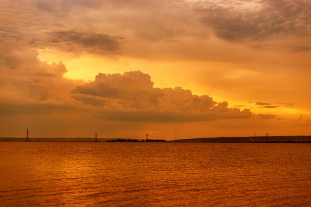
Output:
<path fill-rule="evenodd" d="M 100 107 L 101 118 L 132 121 L 209 121 L 248 118 L 248 109 L 228 108 L 208 95 L 190 90 L 153 87 L 151 76 L 141 71 L 124 74 L 99 73 L 95 80 L 77 86 L 72 97 L 83 104 Z"/>

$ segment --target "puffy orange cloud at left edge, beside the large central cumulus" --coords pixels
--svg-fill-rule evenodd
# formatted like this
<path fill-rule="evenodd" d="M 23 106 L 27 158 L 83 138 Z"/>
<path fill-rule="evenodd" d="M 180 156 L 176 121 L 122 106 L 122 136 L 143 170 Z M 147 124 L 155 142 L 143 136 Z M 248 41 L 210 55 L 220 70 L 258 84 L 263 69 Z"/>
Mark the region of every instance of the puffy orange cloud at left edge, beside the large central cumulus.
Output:
<path fill-rule="evenodd" d="M 36 64 L 40 64 L 40 68 L 35 68 Z M 62 77 L 66 72 L 63 64 L 48 65 L 38 62 L 32 67 L 31 70 L 0 68 L 2 115 L 23 115 L 34 112 L 40 114 L 42 111 L 50 113 L 53 109 L 70 108 L 69 105 L 72 105 L 66 103 L 66 100 L 68 100 L 68 92 L 74 85 L 73 81 Z M 63 107 L 65 105 L 67 106 Z"/>

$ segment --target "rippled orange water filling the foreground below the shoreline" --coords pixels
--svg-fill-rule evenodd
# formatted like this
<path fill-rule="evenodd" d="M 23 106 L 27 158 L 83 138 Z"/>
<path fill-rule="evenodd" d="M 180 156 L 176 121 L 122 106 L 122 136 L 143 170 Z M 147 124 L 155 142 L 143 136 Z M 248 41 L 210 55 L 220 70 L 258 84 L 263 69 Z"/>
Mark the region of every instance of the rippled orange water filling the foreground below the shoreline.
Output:
<path fill-rule="evenodd" d="M 311 206 L 311 144 L 0 142 L 5 206 Z"/>

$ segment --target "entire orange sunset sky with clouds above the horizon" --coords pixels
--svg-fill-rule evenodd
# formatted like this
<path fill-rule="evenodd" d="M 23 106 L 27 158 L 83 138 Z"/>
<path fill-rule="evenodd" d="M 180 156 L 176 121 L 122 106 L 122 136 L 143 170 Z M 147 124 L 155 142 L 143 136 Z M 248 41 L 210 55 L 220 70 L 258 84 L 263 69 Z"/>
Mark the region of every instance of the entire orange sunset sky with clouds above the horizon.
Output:
<path fill-rule="evenodd" d="M 311 135 L 310 0 L 0 2 L 0 137 Z"/>

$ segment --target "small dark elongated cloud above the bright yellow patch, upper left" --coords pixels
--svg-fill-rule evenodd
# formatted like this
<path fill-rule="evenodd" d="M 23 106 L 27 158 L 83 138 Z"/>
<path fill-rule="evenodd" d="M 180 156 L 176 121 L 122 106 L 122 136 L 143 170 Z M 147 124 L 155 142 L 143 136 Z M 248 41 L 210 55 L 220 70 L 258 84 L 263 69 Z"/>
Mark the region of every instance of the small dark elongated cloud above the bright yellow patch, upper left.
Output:
<path fill-rule="evenodd" d="M 123 38 L 108 34 L 80 31 L 53 31 L 48 33 L 47 45 L 69 52 L 94 54 L 118 53 Z"/>

